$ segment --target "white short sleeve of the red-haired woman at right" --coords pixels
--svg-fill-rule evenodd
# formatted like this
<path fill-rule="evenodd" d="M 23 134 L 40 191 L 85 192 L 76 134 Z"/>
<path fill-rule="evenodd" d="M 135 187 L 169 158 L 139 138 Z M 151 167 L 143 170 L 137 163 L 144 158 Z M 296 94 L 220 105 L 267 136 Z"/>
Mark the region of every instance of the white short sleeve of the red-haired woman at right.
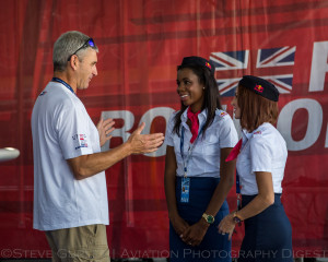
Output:
<path fill-rule="evenodd" d="M 261 134 L 256 134 L 250 140 L 250 163 L 251 172 L 272 172 L 272 145 Z"/>

